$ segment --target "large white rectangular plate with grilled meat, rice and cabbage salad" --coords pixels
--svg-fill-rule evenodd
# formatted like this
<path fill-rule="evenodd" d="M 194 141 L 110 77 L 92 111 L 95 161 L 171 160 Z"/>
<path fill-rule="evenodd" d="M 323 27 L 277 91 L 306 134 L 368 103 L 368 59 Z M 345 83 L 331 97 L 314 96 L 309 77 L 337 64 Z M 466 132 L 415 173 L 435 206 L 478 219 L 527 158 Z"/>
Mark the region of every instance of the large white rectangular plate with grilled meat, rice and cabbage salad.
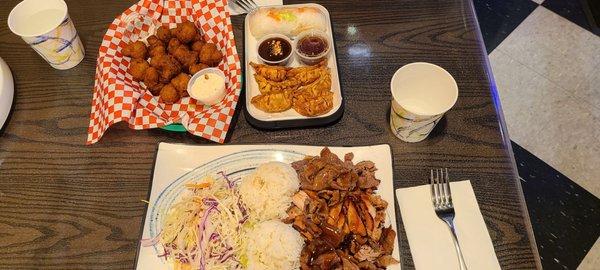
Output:
<path fill-rule="evenodd" d="M 392 172 L 388 145 L 161 143 L 136 268 L 400 269 Z"/>

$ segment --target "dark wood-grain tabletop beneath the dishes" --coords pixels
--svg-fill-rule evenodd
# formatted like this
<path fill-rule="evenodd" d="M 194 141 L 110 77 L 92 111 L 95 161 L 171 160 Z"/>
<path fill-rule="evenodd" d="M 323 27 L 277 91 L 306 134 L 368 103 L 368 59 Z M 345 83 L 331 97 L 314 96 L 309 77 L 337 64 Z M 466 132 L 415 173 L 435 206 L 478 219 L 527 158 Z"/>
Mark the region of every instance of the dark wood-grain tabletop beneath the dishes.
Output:
<path fill-rule="evenodd" d="M 121 123 L 86 146 L 98 47 L 109 23 L 134 1 L 67 0 L 86 57 L 66 71 L 51 68 L 10 32 L 6 18 L 17 2 L 0 2 L 0 57 L 16 83 L 14 111 L 0 134 L 0 268 L 131 269 L 157 143 L 211 142 Z M 333 20 L 343 118 L 325 128 L 261 131 L 248 125 L 240 104 L 228 143 L 388 143 L 396 188 L 425 184 L 430 168 L 448 167 L 455 179 L 472 181 L 502 268 L 539 266 L 472 3 L 316 2 Z M 243 17 L 233 21 L 242 55 Z M 416 61 L 446 68 L 460 95 L 429 139 L 409 144 L 388 127 L 389 82 Z M 398 230 L 402 264 L 413 268 L 401 222 Z"/>

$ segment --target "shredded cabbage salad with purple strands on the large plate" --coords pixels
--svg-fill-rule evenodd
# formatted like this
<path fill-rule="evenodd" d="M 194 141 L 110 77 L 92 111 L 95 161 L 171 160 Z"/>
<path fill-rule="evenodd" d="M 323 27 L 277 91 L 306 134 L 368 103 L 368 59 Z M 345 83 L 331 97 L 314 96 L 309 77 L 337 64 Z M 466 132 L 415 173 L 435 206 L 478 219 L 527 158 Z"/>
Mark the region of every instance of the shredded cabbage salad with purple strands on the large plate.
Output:
<path fill-rule="evenodd" d="M 240 269 L 248 228 L 248 211 L 231 181 L 205 177 L 186 184 L 187 191 L 171 206 L 156 239 L 167 260 L 182 269 Z"/>

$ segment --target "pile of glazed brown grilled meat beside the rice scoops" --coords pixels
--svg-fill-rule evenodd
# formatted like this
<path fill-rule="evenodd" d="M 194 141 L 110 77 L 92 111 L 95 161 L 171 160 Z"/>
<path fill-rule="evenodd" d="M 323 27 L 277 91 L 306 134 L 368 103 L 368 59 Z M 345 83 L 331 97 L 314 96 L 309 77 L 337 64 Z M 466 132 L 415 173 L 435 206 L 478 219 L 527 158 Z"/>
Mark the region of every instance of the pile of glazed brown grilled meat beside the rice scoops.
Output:
<path fill-rule="evenodd" d="M 354 165 L 328 148 L 319 156 L 292 163 L 300 190 L 292 197 L 288 218 L 305 239 L 300 269 L 386 269 L 398 264 L 392 252 L 396 232 L 385 227 L 387 202 L 375 194 L 375 165 Z"/>

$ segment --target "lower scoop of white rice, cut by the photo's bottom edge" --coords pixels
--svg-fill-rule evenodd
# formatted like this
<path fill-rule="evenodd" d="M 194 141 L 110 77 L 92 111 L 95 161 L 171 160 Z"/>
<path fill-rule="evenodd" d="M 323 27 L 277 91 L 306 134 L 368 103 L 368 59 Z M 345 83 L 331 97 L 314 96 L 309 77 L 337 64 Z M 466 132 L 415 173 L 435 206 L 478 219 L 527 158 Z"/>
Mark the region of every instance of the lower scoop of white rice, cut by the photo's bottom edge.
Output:
<path fill-rule="evenodd" d="M 291 225 L 279 220 L 259 223 L 248 234 L 247 269 L 299 269 L 303 245 L 302 236 Z"/>

